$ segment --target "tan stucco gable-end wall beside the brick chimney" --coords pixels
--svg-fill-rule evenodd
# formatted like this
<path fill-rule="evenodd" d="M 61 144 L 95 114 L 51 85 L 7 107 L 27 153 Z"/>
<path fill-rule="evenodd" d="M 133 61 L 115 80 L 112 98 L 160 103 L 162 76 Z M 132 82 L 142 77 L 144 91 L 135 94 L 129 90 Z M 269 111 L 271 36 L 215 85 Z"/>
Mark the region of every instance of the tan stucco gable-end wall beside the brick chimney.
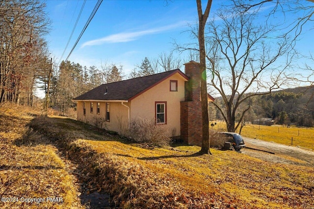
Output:
<path fill-rule="evenodd" d="M 170 80 L 178 81 L 178 91 L 170 91 Z M 180 136 L 180 101 L 184 101 L 185 79 L 176 73 L 131 100 L 131 120 L 138 117 L 155 120 L 156 102 L 167 102 L 166 124 L 168 136 Z"/>

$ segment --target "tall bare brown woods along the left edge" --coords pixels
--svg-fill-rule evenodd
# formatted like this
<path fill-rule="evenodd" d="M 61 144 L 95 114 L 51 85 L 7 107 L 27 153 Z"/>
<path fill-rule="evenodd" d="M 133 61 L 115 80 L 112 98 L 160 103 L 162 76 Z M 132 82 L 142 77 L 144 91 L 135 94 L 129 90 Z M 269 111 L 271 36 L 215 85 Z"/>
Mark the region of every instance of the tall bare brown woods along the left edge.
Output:
<path fill-rule="evenodd" d="M 32 105 L 36 79 L 48 74 L 44 7 L 34 0 L 0 1 L 0 102 Z"/>

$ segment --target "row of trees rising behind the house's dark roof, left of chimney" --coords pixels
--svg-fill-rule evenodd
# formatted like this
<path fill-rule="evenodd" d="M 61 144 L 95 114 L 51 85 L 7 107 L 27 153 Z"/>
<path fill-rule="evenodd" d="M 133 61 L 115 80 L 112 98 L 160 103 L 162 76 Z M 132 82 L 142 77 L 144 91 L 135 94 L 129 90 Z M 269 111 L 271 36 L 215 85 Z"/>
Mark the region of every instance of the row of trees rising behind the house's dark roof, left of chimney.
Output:
<path fill-rule="evenodd" d="M 56 66 L 52 71 L 49 91 L 49 107 L 53 107 L 67 115 L 69 108 L 73 108 L 75 103 L 72 102 L 74 97 L 87 91 L 94 89 L 102 84 L 121 81 L 123 79 L 131 79 L 139 76 L 146 76 L 160 71 L 173 70 L 164 67 L 163 62 L 168 63 L 170 67 L 179 68 L 179 63 L 174 63 L 172 54 L 162 54 L 151 64 L 149 59 L 145 57 L 140 65 L 136 65 L 127 77 L 124 75 L 123 66 L 118 64 L 104 63 L 101 69 L 96 66 L 82 67 L 79 63 L 70 61 L 62 61 L 60 66 Z M 154 65 L 154 67 L 153 67 Z M 39 77 L 41 81 L 40 88 L 48 91 L 48 74 Z"/>

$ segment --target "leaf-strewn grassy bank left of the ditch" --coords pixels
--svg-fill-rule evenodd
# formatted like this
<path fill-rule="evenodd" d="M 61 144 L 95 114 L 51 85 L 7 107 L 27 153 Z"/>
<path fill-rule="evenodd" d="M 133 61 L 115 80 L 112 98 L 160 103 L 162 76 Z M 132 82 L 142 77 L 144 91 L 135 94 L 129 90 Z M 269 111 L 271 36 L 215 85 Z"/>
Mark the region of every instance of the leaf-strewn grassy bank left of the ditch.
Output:
<path fill-rule="evenodd" d="M 0 197 L 19 198 L 0 202 L 0 208 L 81 208 L 78 186 L 71 168 L 57 149 L 27 124 L 40 112 L 10 103 L 0 106 Z M 44 198 L 26 203 L 21 198 Z M 62 197 L 62 203 L 47 202 Z"/>

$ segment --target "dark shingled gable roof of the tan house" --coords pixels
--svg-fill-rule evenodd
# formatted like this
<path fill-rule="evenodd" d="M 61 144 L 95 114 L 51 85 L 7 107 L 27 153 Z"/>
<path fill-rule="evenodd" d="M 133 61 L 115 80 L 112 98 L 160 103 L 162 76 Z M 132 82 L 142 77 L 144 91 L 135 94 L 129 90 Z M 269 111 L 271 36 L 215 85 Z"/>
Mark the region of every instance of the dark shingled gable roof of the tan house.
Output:
<path fill-rule="evenodd" d="M 102 84 L 73 100 L 131 100 L 177 72 L 185 79 L 188 79 L 181 70 L 170 70 L 144 77 Z M 106 88 L 107 93 L 105 94 Z"/>

